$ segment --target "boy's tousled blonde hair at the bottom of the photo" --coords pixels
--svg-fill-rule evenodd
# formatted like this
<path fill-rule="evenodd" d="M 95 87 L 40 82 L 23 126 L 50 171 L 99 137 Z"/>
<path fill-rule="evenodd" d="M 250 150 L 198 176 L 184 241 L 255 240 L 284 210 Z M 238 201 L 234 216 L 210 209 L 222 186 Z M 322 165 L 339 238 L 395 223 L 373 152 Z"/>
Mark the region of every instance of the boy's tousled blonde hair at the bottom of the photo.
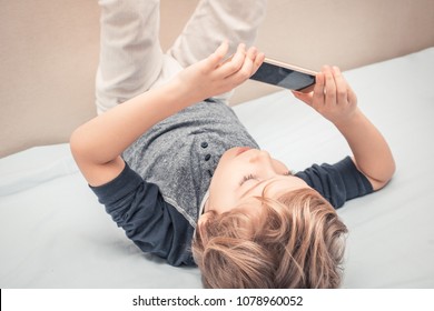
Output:
<path fill-rule="evenodd" d="M 206 288 L 337 288 L 345 224 L 315 190 L 245 208 L 210 211 L 197 230 L 193 254 Z"/>

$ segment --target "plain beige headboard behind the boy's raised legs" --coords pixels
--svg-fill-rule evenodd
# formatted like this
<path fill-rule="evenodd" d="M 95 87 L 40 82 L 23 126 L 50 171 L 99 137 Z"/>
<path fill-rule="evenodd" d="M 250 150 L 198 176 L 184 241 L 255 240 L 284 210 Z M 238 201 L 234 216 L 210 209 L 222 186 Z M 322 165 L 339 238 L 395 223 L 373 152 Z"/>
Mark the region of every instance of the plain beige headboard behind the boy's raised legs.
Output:
<path fill-rule="evenodd" d="M 161 0 L 168 47 L 197 0 Z M 66 142 L 96 114 L 99 8 L 90 0 L 9 0 L 0 10 L 0 157 Z M 434 46 L 433 0 L 268 0 L 257 47 L 303 67 L 351 69 Z M 276 89 L 247 82 L 234 103 Z"/>

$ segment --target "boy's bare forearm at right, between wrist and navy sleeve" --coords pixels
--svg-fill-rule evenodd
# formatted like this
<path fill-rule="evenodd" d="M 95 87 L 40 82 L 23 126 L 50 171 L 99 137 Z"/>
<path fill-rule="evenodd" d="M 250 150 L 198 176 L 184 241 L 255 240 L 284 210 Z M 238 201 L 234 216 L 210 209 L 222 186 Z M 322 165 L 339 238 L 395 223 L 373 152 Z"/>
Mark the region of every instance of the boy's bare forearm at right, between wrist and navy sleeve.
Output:
<path fill-rule="evenodd" d="M 353 151 L 355 163 L 374 190 L 384 187 L 395 172 L 392 151 L 376 127 L 357 109 L 345 122 L 335 122 Z"/>

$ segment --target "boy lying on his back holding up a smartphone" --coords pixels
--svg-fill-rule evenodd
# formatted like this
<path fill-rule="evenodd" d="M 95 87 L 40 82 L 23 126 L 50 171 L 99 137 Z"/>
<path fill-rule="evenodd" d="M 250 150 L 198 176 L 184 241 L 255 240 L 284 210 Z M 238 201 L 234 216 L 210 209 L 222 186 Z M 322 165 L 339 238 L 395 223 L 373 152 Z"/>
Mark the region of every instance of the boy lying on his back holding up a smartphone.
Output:
<path fill-rule="evenodd" d="M 215 6 L 225 3 L 218 2 Z M 236 1 L 229 2 L 234 6 Z M 257 21 L 260 19 L 251 11 L 263 11 L 263 2 L 243 6 L 244 10 L 220 11 L 231 14 L 233 22 L 234 16 Z M 139 18 L 147 23 L 158 12 L 149 2 L 142 8 L 137 8 L 141 1 L 127 3 L 131 12 L 140 11 Z M 203 1 L 197 11 L 204 12 L 208 6 Z M 128 8 L 103 10 L 120 13 Z M 102 21 L 102 26 L 108 22 Z M 195 18 L 188 27 L 206 36 L 207 30 L 195 27 Z M 177 41 L 179 50 L 196 47 L 194 41 L 198 39 L 188 38 L 188 27 Z M 256 27 L 251 22 L 249 31 L 236 38 L 251 41 Z M 156 31 L 149 24 L 147 29 Z M 105 36 L 105 28 L 101 31 Z M 227 33 L 221 30 L 213 40 Z M 154 40 L 158 37 L 142 36 Z M 136 37 L 134 40 L 140 39 Z M 114 53 L 108 53 L 111 58 L 118 51 L 119 63 L 112 66 L 122 66 L 126 49 L 108 47 L 115 41 L 108 40 L 106 46 L 102 42 L 102 48 L 112 49 Z M 160 63 L 154 82 L 164 76 L 169 59 L 159 49 L 150 51 L 156 46 L 152 42 L 140 51 L 148 59 L 137 69 Z M 178 61 L 178 69 L 161 78 L 164 82 L 158 86 L 149 89 L 151 83 L 147 83 L 145 92 L 140 89 L 144 83 L 135 88 L 140 89 L 139 94 L 73 132 L 73 157 L 99 201 L 128 238 L 144 252 L 165 258 L 172 265 L 197 264 L 205 287 L 337 288 L 347 230 L 335 208 L 389 181 L 395 170 L 391 150 L 357 108 L 356 96 L 339 70 L 324 67 L 314 91 L 295 96 L 342 132 L 353 158 L 335 164 L 314 164 L 292 174 L 288 167 L 259 149 L 226 104 L 228 92 L 258 69 L 264 54 L 239 44 L 234 57 L 224 61 L 228 50 L 224 42 L 185 69 L 181 67 L 188 61 L 180 66 Z M 170 62 L 176 54 L 175 46 Z M 124 84 L 103 77 L 108 74 L 102 72 L 103 58 L 101 54 L 99 91 L 103 92 L 105 87 L 107 94 L 107 90 L 130 88 L 127 80 L 131 74 L 126 76 Z M 124 56 L 127 72 L 131 56 Z M 150 71 L 145 73 L 151 76 Z M 105 110 L 101 107 L 100 111 Z"/>

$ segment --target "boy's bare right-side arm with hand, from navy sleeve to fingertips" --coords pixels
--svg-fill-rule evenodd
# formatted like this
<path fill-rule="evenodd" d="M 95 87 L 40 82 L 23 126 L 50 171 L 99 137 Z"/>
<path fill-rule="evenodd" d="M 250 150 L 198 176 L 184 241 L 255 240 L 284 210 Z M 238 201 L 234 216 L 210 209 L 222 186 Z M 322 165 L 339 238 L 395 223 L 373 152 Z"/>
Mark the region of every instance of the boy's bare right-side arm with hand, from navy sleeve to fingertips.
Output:
<path fill-rule="evenodd" d="M 353 161 L 374 190 L 383 188 L 395 172 L 391 149 L 375 126 L 357 107 L 357 98 L 338 68 L 324 67 L 312 93 L 294 92 L 333 122 L 353 151 Z"/>

